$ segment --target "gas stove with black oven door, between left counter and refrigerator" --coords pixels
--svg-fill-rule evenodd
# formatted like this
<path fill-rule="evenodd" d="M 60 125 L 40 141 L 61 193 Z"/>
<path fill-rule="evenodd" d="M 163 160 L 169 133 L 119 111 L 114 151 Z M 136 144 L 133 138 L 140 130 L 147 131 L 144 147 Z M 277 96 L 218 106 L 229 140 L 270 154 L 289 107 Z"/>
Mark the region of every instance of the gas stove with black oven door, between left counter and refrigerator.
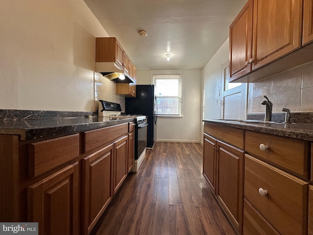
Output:
<path fill-rule="evenodd" d="M 99 117 L 109 117 L 110 119 L 134 118 L 134 167 L 137 172 L 146 156 L 147 145 L 147 117 L 144 115 L 122 114 L 121 105 L 105 100 L 99 100 Z"/>

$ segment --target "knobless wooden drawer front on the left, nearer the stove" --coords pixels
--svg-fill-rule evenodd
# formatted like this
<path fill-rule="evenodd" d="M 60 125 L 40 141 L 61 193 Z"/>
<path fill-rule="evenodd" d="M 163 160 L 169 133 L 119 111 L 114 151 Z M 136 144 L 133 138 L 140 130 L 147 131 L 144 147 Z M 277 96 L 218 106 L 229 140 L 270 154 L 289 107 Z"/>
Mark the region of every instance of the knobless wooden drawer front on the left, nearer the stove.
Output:
<path fill-rule="evenodd" d="M 104 147 L 108 143 L 128 133 L 128 123 L 84 132 L 85 144 L 83 152 Z"/>

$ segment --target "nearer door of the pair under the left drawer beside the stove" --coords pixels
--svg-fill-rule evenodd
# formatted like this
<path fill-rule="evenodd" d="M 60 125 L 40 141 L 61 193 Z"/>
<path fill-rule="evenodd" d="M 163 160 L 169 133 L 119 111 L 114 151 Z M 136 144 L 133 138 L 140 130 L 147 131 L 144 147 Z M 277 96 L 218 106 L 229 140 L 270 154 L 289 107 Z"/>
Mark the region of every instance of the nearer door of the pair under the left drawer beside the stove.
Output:
<path fill-rule="evenodd" d="M 89 234 L 113 196 L 113 144 L 82 160 L 84 234 Z"/>

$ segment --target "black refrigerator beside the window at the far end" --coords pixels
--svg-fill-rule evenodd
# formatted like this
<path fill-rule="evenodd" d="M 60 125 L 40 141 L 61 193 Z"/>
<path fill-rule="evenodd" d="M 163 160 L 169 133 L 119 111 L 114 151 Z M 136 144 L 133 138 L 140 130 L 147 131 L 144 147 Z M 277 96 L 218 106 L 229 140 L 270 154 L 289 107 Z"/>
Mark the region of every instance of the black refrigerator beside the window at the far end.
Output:
<path fill-rule="evenodd" d="M 125 98 L 125 113 L 147 116 L 147 148 L 153 148 L 157 119 L 155 85 L 136 85 L 136 97 Z"/>

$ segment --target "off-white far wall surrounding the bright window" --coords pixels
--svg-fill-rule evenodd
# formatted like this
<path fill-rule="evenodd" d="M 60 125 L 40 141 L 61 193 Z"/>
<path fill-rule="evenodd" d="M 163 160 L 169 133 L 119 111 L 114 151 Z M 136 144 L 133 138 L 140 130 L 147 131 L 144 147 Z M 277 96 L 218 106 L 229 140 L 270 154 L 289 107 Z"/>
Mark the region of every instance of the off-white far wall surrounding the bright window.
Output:
<path fill-rule="evenodd" d="M 152 84 L 152 75 L 182 75 L 183 117 L 158 117 L 156 141 L 199 142 L 201 133 L 201 71 L 137 71 L 137 84 Z"/>

